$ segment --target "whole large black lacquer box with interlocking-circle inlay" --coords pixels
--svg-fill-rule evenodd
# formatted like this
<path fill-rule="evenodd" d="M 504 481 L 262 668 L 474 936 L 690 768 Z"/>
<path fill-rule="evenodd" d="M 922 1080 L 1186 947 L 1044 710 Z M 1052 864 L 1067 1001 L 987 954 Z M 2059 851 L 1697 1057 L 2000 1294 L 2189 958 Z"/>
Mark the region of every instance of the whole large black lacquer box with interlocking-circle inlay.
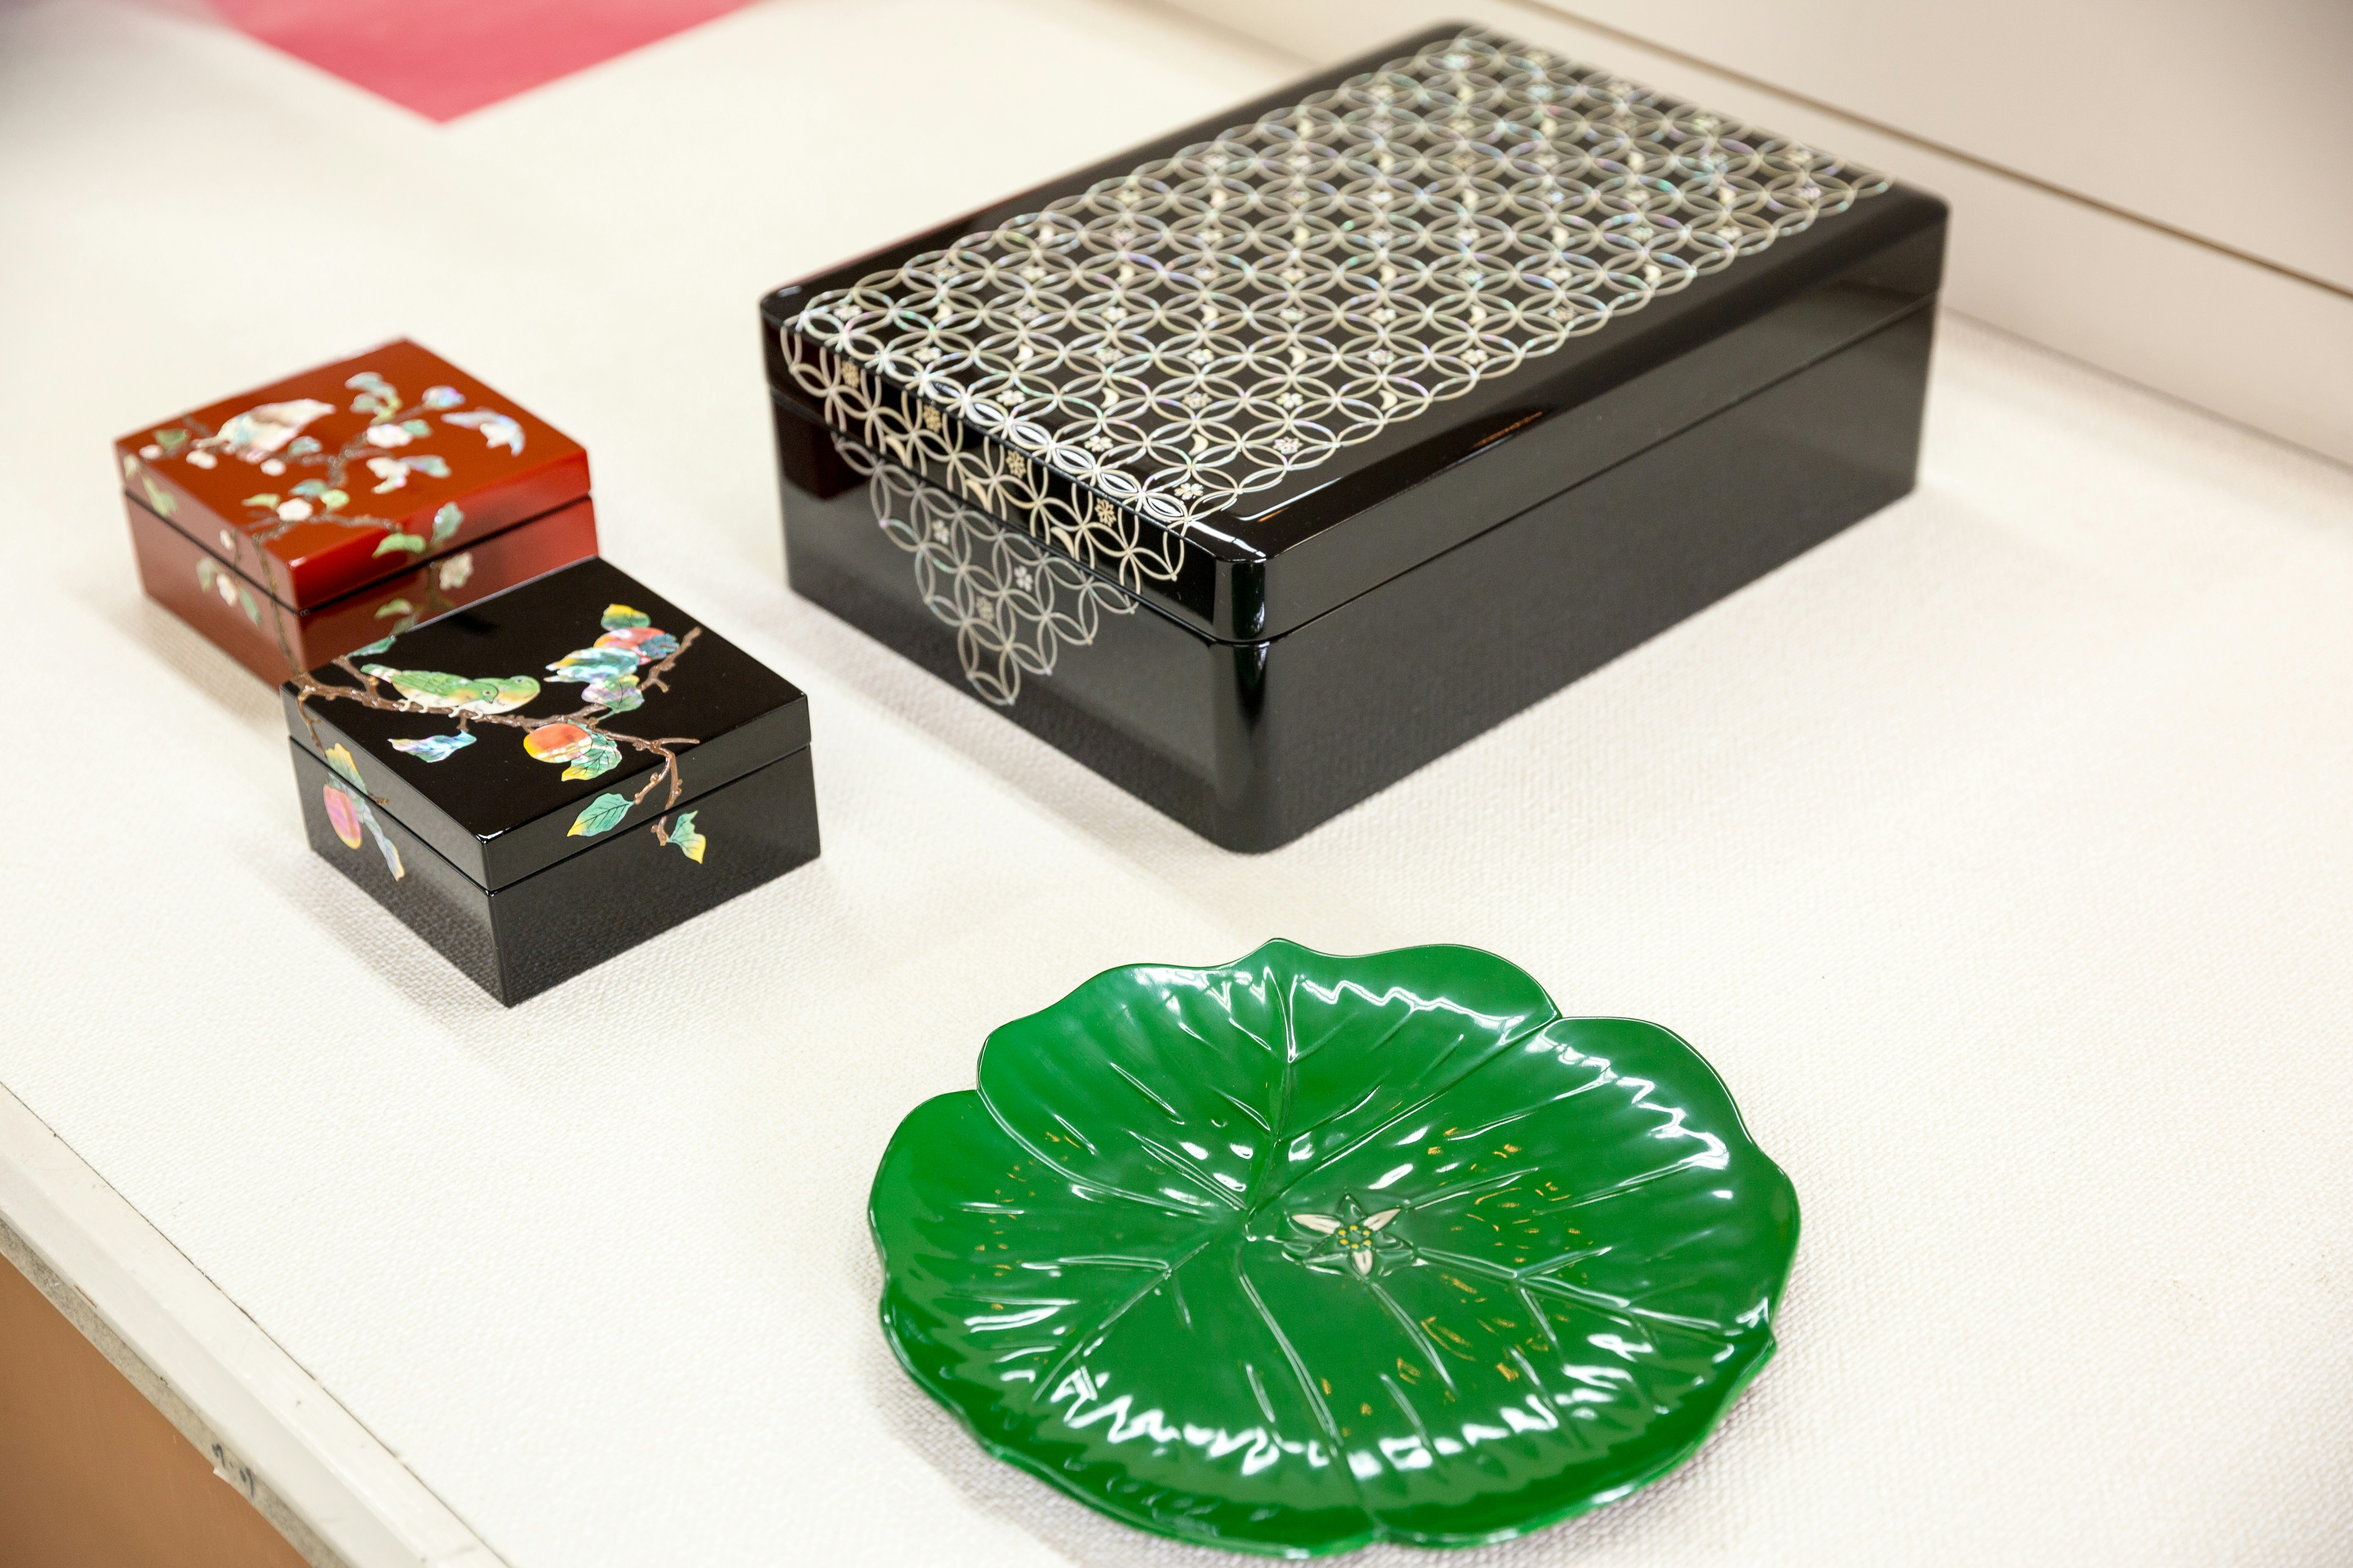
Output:
<path fill-rule="evenodd" d="M 1445 28 L 769 294 L 791 581 L 1271 849 L 1906 494 L 1944 230 Z"/>

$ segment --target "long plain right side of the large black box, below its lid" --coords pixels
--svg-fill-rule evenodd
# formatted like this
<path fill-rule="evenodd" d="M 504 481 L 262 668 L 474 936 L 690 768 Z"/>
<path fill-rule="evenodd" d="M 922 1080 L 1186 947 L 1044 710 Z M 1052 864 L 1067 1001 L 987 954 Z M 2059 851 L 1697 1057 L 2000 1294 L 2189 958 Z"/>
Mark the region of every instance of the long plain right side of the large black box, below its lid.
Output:
<path fill-rule="evenodd" d="M 1934 315 L 1555 496 L 1271 644 L 1247 809 L 1271 849 L 1913 487 Z"/>

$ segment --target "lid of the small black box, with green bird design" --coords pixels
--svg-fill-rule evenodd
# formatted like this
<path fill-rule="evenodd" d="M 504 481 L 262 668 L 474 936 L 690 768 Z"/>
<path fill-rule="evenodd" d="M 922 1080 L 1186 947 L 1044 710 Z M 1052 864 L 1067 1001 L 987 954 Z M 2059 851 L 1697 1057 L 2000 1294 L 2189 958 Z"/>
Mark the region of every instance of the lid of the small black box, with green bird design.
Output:
<path fill-rule="evenodd" d="M 280 696 L 296 745 L 485 889 L 612 832 L 668 837 L 694 797 L 809 743 L 798 686 L 605 559 L 386 637 Z M 682 837 L 682 853 L 699 849 Z"/>

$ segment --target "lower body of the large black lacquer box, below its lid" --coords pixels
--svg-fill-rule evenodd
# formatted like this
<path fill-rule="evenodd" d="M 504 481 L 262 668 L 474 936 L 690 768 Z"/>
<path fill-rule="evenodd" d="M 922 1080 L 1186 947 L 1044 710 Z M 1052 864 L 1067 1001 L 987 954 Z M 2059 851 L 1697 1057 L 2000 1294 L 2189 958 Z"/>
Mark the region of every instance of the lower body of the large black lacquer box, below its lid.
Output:
<path fill-rule="evenodd" d="M 1273 849 L 1906 494 L 1932 331 L 1920 308 L 1268 642 L 1089 592 L 906 484 L 786 487 L 791 581 L 1195 832 Z"/>

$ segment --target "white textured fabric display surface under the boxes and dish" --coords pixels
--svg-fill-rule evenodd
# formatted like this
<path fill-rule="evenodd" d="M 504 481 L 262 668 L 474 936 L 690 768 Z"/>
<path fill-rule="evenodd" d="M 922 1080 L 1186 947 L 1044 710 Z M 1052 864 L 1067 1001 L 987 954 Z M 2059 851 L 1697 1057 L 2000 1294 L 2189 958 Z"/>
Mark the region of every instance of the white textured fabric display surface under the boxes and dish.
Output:
<path fill-rule="evenodd" d="M 1191 1563 L 906 1382 L 873 1164 L 1099 969 L 1471 943 L 1692 1039 L 1805 1239 L 1689 1467 L 1452 1563 L 2344 1563 L 2346 470 L 1948 317 L 1915 496 L 1261 858 L 786 590 L 760 292 L 1297 68 L 784 0 L 433 127 L 0 9 L 0 1084 L 513 1568 Z M 812 703 L 824 858 L 515 1011 L 308 851 L 108 470 L 398 334 Z"/>

